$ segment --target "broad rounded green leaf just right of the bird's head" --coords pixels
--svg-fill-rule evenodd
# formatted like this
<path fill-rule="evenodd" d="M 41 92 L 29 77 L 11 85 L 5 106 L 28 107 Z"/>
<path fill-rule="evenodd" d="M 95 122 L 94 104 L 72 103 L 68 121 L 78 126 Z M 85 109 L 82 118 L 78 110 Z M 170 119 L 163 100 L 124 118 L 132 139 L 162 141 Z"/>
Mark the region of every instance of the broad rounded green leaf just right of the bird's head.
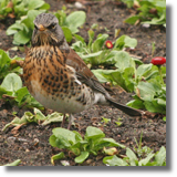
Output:
<path fill-rule="evenodd" d="M 65 24 L 73 34 L 79 32 L 77 28 L 84 24 L 86 14 L 84 11 L 75 11 L 66 17 Z"/>

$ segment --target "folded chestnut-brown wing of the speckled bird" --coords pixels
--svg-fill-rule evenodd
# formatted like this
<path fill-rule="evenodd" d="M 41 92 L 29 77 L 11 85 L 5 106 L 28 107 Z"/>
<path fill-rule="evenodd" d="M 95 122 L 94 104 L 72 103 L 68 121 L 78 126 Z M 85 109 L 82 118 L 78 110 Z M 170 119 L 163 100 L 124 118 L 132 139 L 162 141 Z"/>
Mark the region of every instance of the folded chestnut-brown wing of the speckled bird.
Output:
<path fill-rule="evenodd" d="M 84 61 L 75 53 L 74 50 L 70 49 L 65 62 L 66 65 L 72 66 L 75 70 L 79 81 L 91 86 L 95 91 L 107 94 L 107 91 L 98 82 L 96 76 L 91 72 L 91 70 L 87 67 Z"/>

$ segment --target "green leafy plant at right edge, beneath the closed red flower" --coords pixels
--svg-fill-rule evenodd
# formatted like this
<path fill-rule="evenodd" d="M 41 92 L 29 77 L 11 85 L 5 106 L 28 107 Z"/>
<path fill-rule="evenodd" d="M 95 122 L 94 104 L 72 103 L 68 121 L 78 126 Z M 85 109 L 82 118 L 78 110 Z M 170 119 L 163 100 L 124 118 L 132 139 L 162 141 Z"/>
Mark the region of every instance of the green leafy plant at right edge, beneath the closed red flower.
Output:
<path fill-rule="evenodd" d="M 159 69 L 160 67 L 160 69 Z M 166 114 L 166 76 L 165 66 L 143 64 L 137 69 L 135 81 L 135 100 L 127 103 L 128 106 L 146 108 L 153 113 Z M 144 81 L 140 81 L 143 77 Z"/>

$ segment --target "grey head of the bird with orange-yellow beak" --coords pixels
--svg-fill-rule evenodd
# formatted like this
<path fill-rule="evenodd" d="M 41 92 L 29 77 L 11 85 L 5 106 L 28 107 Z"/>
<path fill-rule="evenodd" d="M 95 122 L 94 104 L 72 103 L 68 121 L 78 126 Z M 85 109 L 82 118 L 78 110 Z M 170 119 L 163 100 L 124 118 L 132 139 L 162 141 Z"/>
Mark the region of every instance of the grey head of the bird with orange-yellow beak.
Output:
<path fill-rule="evenodd" d="M 32 34 L 32 45 L 60 45 L 64 40 L 64 34 L 59 25 L 59 20 L 51 13 L 39 14 L 34 22 Z"/>

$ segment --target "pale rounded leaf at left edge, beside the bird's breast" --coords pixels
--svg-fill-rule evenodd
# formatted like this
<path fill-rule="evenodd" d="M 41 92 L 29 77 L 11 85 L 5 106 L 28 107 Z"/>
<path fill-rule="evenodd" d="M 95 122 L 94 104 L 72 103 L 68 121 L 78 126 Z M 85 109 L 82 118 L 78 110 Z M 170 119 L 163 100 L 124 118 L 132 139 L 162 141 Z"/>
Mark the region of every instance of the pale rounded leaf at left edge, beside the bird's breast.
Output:
<path fill-rule="evenodd" d="M 19 75 L 10 73 L 4 77 L 1 86 L 4 87 L 7 91 L 11 91 L 14 93 L 22 87 L 22 81 Z"/>

